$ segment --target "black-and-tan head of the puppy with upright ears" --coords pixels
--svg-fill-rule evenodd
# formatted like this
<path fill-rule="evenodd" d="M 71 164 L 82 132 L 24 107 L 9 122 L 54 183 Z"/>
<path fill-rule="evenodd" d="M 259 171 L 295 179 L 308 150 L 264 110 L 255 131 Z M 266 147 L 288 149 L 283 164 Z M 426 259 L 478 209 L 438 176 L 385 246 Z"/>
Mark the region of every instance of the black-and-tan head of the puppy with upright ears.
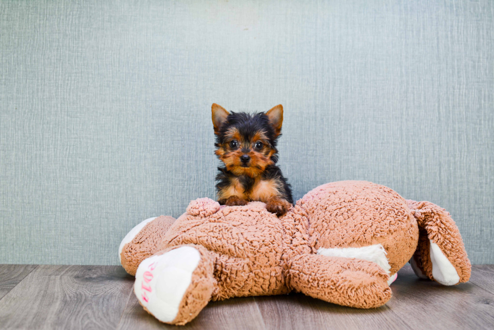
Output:
<path fill-rule="evenodd" d="M 283 106 L 267 113 L 228 113 L 213 103 L 212 118 L 216 134 L 216 155 L 236 176 L 255 178 L 278 160 L 276 143 L 281 135 Z"/>

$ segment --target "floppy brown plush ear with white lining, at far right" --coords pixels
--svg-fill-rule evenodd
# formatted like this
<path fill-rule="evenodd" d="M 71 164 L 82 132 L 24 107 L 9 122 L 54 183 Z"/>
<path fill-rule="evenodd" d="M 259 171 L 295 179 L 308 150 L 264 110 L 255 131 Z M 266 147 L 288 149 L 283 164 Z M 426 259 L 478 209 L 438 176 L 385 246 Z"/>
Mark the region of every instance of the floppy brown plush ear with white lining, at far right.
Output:
<path fill-rule="evenodd" d="M 450 214 L 430 202 L 407 202 L 419 226 L 417 251 L 410 259 L 415 274 L 443 285 L 467 282 L 471 265 Z"/>

